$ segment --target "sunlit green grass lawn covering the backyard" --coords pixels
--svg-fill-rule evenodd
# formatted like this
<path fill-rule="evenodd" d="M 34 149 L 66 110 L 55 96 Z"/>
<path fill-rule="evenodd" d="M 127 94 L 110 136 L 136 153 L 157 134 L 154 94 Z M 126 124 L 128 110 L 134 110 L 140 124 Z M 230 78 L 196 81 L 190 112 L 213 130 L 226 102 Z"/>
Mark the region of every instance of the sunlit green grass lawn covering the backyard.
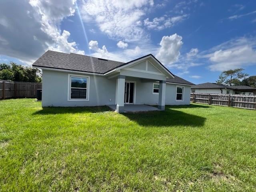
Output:
<path fill-rule="evenodd" d="M 1 191 L 255 191 L 256 111 L 0 101 Z"/>

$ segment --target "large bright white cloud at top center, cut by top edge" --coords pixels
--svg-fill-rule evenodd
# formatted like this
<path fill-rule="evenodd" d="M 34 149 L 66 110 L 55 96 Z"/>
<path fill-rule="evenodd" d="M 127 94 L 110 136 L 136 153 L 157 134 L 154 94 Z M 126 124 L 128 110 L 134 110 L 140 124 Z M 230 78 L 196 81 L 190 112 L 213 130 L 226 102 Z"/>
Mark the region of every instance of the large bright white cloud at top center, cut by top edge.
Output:
<path fill-rule="evenodd" d="M 143 8 L 153 4 L 153 0 L 88 0 L 82 2 L 80 12 L 83 20 L 96 22 L 110 38 L 135 42 L 148 39 L 140 19 L 145 14 Z"/>

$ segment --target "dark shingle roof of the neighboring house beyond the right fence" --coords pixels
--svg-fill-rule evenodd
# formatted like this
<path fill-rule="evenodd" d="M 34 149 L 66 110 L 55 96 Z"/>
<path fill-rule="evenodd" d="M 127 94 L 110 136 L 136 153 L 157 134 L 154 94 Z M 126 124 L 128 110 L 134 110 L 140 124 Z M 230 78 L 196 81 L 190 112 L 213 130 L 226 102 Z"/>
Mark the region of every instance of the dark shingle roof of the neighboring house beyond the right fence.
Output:
<path fill-rule="evenodd" d="M 195 86 L 191 86 L 192 89 L 214 89 L 214 88 L 226 88 L 226 89 L 234 89 L 234 90 L 256 90 L 254 87 L 250 86 L 228 86 L 228 85 L 222 85 L 222 84 L 216 84 L 216 83 L 202 83 Z"/>

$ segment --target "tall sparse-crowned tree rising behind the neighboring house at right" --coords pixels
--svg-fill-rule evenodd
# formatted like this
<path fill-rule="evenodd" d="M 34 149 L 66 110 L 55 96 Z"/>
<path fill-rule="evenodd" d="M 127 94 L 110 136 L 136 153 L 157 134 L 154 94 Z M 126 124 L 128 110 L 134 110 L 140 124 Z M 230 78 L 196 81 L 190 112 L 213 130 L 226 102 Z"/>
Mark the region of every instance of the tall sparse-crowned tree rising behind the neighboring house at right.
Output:
<path fill-rule="evenodd" d="M 248 76 L 248 74 L 242 72 L 243 70 L 244 69 L 242 68 L 237 68 L 234 70 L 230 69 L 230 70 L 224 71 L 219 75 L 219 78 L 216 81 L 216 83 L 228 84 L 230 86 L 240 85 L 242 84 L 240 79 L 244 79 L 246 78 L 246 76 Z"/>

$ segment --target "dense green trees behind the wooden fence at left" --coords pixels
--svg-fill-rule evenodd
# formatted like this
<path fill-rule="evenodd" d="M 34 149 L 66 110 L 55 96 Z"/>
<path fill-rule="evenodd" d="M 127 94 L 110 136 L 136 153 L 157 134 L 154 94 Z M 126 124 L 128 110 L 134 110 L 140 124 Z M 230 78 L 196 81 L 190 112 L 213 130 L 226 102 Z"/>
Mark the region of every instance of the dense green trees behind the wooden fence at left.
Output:
<path fill-rule="evenodd" d="M 38 69 L 10 62 L 0 64 L 0 79 L 20 82 L 42 82 L 42 72 Z"/>

